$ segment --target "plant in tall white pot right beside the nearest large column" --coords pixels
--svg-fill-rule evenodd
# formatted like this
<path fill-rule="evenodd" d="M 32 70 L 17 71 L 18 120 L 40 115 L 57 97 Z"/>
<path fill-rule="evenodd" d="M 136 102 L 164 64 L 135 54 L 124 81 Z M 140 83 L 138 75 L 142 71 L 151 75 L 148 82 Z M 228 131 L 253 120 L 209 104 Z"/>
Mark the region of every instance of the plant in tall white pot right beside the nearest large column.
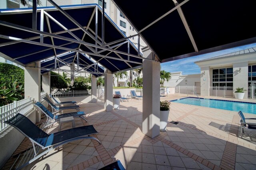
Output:
<path fill-rule="evenodd" d="M 170 104 L 167 100 L 160 102 L 160 131 L 166 131 Z"/>

